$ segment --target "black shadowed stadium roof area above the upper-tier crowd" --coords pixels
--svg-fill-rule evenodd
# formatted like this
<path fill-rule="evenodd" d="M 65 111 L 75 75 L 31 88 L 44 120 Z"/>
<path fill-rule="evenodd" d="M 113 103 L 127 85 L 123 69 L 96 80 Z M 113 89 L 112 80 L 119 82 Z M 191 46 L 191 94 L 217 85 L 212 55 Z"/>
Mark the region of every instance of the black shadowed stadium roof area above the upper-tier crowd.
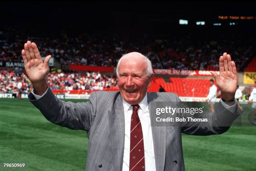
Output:
<path fill-rule="evenodd" d="M 177 26 L 179 19 L 190 23 L 205 20 L 211 25 L 219 15 L 254 16 L 256 2 L 0 2 L 5 25 L 31 25 L 86 29 L 106 26 L 151 27 Z M 245 22 L 245 21 L 241 21 Z M 246 21 L 246 23 L 248 23 Z M 251 24 L 251 23 L 250 23 Z M 129 30 L 129 29 L 128 29 Z"/>

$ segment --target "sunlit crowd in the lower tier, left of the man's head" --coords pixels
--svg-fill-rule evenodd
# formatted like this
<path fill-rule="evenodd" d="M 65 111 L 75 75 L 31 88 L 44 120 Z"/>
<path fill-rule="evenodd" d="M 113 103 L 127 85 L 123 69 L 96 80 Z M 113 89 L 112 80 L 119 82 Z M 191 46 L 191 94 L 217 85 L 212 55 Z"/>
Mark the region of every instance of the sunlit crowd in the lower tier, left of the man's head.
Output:
<path fill-rule="evenodd" d="M 117 87 L 115 76 L 100 72 L 50 72 L 46 81 L 52 90 L 103 90 Z M 28 93 L 32 84 L 21 68 L 0 68 L 0 93 Z"/>

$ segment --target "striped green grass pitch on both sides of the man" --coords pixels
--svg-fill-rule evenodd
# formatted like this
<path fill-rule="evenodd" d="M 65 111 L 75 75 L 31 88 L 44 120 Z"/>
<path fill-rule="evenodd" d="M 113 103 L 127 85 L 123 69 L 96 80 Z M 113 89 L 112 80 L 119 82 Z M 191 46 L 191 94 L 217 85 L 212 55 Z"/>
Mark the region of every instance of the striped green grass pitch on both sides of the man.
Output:
<path fill-rule="evenodd" d="M 187 171 L 256 171 L 256 127 L 183 134 L 182 144 Z M 50 123 L 28 99 L 0 99 L 0 162 L 25 162 L 28 171 L 84 171 L 87 145 L 85 131 Z"/>

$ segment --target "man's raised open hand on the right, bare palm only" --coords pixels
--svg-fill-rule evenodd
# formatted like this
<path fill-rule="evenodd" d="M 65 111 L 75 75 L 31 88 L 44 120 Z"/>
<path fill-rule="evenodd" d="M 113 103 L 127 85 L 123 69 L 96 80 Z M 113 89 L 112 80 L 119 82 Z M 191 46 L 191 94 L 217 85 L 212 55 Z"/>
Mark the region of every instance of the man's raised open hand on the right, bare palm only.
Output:
<path fill-rule="evenodd" d="M 235 98 L 236 87 L 238 83 L 238 75 L 236 72 L 236 64 L 231 61 L 231 57 L 227 53 L 220 56 L 220 75 L 211 71 L 217 86 L 221 92 L 221 98 L 230 101 Z"/>

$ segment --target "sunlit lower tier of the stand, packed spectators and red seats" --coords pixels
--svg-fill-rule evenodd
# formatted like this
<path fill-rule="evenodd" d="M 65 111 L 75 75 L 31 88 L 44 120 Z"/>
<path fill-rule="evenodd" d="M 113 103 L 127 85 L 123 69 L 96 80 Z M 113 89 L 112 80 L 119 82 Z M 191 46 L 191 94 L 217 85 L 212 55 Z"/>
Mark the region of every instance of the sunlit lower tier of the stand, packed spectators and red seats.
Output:
<path fill-rule="evenodd" d="M 46 80 L 55 94 L 90 94 L 98 90 L 118 90 L 115 76 L 99 72 L 49 73 Z M 22 93 L 28 93 L 32 89 L 31 82 L 20 69 L 0 68 L 0 93 L 17 93 L 18 84 L 22 85 Z M 208 79 L 170 78 L 170 82 L 165 82 L 162 77 L 155 77 L 148 92 L 158 92 L 160 85 L 166 92 L 177 93 L 182 97 L 206 97 L 210 87 Z"/>

